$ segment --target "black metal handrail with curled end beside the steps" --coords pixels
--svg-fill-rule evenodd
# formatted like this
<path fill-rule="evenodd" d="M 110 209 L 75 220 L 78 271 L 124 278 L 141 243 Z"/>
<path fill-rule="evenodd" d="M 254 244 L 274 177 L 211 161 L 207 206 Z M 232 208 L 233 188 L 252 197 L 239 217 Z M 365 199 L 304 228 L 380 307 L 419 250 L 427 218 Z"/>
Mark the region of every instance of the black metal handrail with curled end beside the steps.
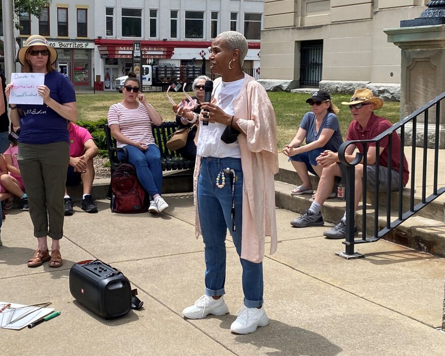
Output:
<path fill-rule="evenodd" d="M 440 118 L 440 102 L 445 99 L 445 92 L 429 101 L 427 104 L 422 106 L 421 108 L 415 110 L 412 114 L 405 117 L 403 120 L 398 123 L 392 125 L 385 132 L 381 133 L 377 137 L 370 140 L 355 140 L 355 141 L 346 141 L 338 149 L 338 157 L 340 162 L 346 166 L 346 177 L 344 177 L 346 181 L 346 241 L 343 242 L 345 245 L 345 251 L 339 252 L 337 255 L 350 259 L 350 258 L 359 258 L 364 257 L 362 254 L 354 252 L 354 245 L 376 242 L 380 240 L 385 234 L 389 231 L 393 230 L 398 225 L 402 224 L 408 218 L 413 216 L 419 210 L 424 208 L 426 205 L 431 203 L 434 199 L 436 199 L 439 195 L 445 192 L 445 186 L 438 187 L 437 186 L 437 174 L 438 174 L 438 151 L 439 151 L 439 118 Z M 416 172 L 416 143 L 417 142 L 417 117 L 421 114 L 424 114 L 424 135 L 423 135 L 423 161 L 426 162 L 427 159 L 427 147 L 428 147 L 428 110 L 435 106 L 435 140 L 434 140 L 434 178 L 433 178 L 433 191 L 430 195 L 426 196 L 426 177 L 427 177 L 427 169 L 426 165 L 423 165 L 422 169 L 422 196 L 421 201 L 418 204 L 415 203 L 414 192 L 415 192 L 415 172 Z M 408 162 L 410 166 L 410 175 L 411 175 L 411 184 L 410 184 L 410 204 L 409 209 L 404 211 L 403 209 L 403 165 L 404 165 L 404 147 L 405 147 L 405 126 L 407 123 L 412 122 L 412 156 L 411 156 L 411 164 Z M 392 136 L 393 132 L 400 130 L 400 165 L 398 167 L 398 171 L 400 174 L 400 182 L 398 185 L 398 202 L 397 202 L 397 218 L 391 221 L 391 187 L 388 184 L 386 188 L 386 221 L 385 226 L 383 228 L 379 228 L 379 207 L 380 207 L 380 195 L 379 195 L 379 184 L 376 184 L 375 197 L 374 197 L 374 226 L 373 226 L 373 235 L 367 237 L 367 219 L 369 218 L 367 214 L 367 155 L 364 153 L 357 152 L 352 162 L 346 161 L 346 149 L 350 145 L 356 145 L 357 143 L 362 143 L 364 145 L 364 152 L 368 151 L 368 147 L 370 144 L 375 144 L 376 152 L 380 150 L 380 142 L 384 138 L 388 138 L 388 151 L 392 152 Z M 430 130 L 431 131 L 431 130 Z M 388 167 L 391 167 L 391 154 L 388 154 Z M 359 163 L 363 163 L 363 208 L 362 208 L 362 238 L 355 239 L 354 238 L 354 191 L 355 191 L 355 166 Z M 379 155 L 376 154 L 376 182 L 379 181 Z M 388 169 L 388 182 L 391 182 L 391 169 Z"/>

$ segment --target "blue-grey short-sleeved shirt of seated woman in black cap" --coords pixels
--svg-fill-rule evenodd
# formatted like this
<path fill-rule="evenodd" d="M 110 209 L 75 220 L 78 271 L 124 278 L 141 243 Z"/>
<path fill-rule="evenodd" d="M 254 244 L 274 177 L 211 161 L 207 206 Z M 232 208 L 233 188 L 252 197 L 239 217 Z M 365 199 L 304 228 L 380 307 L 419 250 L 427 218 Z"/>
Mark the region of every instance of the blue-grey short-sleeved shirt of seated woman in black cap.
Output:
<path fill-rule="evenodd" d="M 343 138 L 341 137 L 340 124 L 338 123 L 337 115 L 333 112 L 328 112 L 324 117 L 318 132 L 315 131 L 315 119 L 315 113 L 309 111 L 306 112 L 301 121 L 300 128 L 306 130 L 306 144 L 317 141 L 320 138 L 323 129 L 331 129 L 334 130 L 334 134 L 324 148 L 329 149 L 332 152 L 338 152 L 338 147 L 343 143 Z"/>

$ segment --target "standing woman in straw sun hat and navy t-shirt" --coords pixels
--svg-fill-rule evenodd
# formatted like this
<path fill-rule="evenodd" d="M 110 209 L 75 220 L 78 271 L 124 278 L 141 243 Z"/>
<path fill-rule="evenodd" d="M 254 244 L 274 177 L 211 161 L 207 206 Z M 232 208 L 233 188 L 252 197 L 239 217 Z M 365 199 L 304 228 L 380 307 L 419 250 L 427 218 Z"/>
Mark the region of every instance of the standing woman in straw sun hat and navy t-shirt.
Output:
<path fill-rule="evenodd" d="M 63 261 L 59 240 L 63 235 L 63 196 L 69 164 L 67 120 L 77 120 L 76 96 L 68 77 L 53 70 L 57 52 L 44 37 L 28 37 L 18 58 L 24 72 L 44 73 L 44 85 L 37 87 L 43 104 L 9 105 L 11 121 L 21 128 L 18 163 L 38 240 L 28 267 L 46 261 L 51 267 L 60 267 Z M 14 83 L 6 86 L 8 98 L 13 86 Z M 47 236 L 52 239 L 51 255 Z"/>

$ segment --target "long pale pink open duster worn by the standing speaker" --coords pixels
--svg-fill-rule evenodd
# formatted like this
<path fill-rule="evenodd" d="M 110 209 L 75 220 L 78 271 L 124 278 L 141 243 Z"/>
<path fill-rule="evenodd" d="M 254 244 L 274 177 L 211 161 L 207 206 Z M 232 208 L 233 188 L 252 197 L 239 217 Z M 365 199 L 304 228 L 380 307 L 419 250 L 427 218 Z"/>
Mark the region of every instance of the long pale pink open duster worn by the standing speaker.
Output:
<path fill-rule="evenodd" d="M 219 85 L 221 78 L 214 81 L 214 89 Z M 277 250 L 274 185 L 274 175 L 278 172 L 277 123 L 268 94 L 247 74 L 233 107 L 235 117 L 239 117 L 237 124 L 244 133 L 238 136 L 244 191 L 241 258 L 259 263 L 264 258 L 266 236 L 271 238 L 270 253 Z M 198 135 L 199 128 L 196 142 Z M 193 181 L 196 238 L 201 234 L 197 201 L 200 169 L 201 157 L 197 156 Z"/>

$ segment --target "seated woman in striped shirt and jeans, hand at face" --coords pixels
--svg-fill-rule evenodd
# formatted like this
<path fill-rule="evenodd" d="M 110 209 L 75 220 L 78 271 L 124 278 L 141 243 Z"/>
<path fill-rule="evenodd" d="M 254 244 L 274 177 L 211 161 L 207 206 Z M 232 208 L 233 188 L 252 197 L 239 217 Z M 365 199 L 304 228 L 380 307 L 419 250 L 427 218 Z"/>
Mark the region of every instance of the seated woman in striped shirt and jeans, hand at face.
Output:
<path fill-rule="evenodd" d="M 135 166 L 139 181 L 152 197 L 148 211 L 156 214 L 168 208 L 161 196 L 161 154 L 152 133 L 152 124 L 161 125 L 162 117 L 139 88 L 136 74 L 128 73 L 122 88 L 123 100 L 108 111 L 108 125 L 117 147 L 126 148 L 128 163 Z M 118 152 L 118 157 L 122 159 L 123 153 Z"/>

